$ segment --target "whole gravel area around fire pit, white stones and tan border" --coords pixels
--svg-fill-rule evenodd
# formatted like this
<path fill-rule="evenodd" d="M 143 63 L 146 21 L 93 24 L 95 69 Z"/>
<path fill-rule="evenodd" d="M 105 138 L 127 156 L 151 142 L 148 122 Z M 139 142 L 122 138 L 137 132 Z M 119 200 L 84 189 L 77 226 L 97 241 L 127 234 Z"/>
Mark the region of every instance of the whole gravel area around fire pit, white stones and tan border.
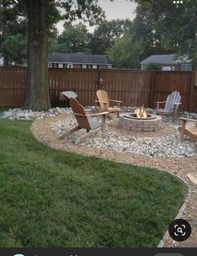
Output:
<path fill-rule="evenodd" d="M 34 136 L 49 147 L 93 155 L 122 163 L 132 163 L 150 168 L 159 168 L 184 179 L 189 194 L 185 200 L 185 209 L 181 216 L 189 221 L 192 236 L 197 233 L 197 185 L 190 181 L 187 174 L 197 173 L 196 144 L 188 139 L 179 142 L 179 121 L 174 124 L 163 118 L 161 131 L 150 133 L 133 133 L 119 131 L 117 118 L 107 120 L 106 139 L 101 139 L 101 132 L 90 137 L 80 145 L 73 141 L 80 136 L 79 131 L 60 141 L 59 136 L 76 125 L 72 115 L 57 115 L 44 120 L 35 120 L 31 126 Z M 121 145 L 121 146 L 120 146 Z M 179 247 L 170 237 L 164 241 L 164 247 Z"/>

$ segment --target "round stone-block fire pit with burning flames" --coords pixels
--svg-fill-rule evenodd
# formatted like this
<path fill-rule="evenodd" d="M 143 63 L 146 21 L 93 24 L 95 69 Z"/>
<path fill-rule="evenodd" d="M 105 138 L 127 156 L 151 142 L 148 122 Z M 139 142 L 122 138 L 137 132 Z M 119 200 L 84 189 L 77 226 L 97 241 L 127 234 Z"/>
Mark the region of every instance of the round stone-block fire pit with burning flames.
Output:
<path fill-rule="evenodd" d="M 162 119 L 159 115 L 147 114 L 143 107 L 120 117 L 118 127 L 128 131 L 158 131 Z"/>

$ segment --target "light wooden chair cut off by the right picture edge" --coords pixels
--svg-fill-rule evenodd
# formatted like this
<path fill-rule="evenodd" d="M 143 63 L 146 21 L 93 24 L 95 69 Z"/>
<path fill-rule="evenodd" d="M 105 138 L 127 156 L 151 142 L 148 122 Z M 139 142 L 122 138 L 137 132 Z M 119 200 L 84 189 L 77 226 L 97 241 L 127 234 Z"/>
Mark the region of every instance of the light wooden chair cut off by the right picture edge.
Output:
<path fill-rule="evenodd" d="M 192 141 L 197 141 L 197 120 L 180 117 L 182 120 L 182 126 L 180 128 L 180 141 L 184 140 L 184 135 L 189 136 Z M 186 126 L 186 122 L 191 121 L 196 123 L 195 125 Z"/>

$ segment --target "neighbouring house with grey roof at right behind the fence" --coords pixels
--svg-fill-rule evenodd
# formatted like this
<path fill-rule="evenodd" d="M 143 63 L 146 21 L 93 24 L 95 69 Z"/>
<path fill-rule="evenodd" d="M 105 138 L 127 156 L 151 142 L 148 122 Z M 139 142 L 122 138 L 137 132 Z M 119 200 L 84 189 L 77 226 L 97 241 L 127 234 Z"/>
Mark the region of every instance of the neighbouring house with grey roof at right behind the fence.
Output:
<path fill-rule="evenodd" d="M 140 62 L 141 69 L 146 70 L 148 63 L 157 63 L 163 71 L 192 71 L 192 63 L 188 56 L 176 59 L 174 54 L 151 55 Z"/>

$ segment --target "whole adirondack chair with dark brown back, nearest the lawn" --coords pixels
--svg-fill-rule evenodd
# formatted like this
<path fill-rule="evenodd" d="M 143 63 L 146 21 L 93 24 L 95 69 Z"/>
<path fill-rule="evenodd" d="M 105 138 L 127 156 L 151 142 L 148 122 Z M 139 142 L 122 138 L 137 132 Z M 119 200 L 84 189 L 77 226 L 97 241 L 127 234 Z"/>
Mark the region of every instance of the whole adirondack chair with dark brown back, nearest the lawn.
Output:
<path fill-rule="evenodd" d="M 97 131 L 102 131 L 102 137 L 104 138 L 106 136 L 105 129 L 106 129 L 106 114 L 108 114 L 107 111 L 101 111 L 96 114 L 92 115 L 86 115 L 86 111 L 83 108 L 81 104 L 76 99 L 70 99 L 70 107 L 73 111 L 73 114 L 75 115 L 75 119 L 78 123 L 78 125 L 71 129 L 70 131 L 67 131 L 65 134 L 60 136 L 60 140 L 64 139 L 65 136 L 68 134 L 72 134 L 75 131 L 79 131 L 80 129 L 86 129 L 87 133 L 83 136 L 80 136 L 79 139 L 75 141 L 75 144 L 79 144 L 81 141 L 86 140 L 87 137 L 95 134 Z M 90 116 L 96 116 L 101 115 L 101 122 L 90 120 Z"/>

